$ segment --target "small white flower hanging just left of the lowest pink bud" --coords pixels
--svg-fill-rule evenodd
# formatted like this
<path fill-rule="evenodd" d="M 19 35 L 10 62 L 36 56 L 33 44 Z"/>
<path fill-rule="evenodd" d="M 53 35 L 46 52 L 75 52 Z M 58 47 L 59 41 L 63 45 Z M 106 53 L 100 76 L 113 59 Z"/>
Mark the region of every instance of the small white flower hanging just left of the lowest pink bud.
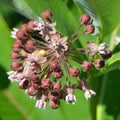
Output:
<path fill-rule="evenodd" d="M 36 101 L 36 105 L 35 106 L 45 110 L 45 108 L 46 108 L 46 99 L 47 99 L 47 97 L 45 95 L 42 95 L 41 99 Z"/>

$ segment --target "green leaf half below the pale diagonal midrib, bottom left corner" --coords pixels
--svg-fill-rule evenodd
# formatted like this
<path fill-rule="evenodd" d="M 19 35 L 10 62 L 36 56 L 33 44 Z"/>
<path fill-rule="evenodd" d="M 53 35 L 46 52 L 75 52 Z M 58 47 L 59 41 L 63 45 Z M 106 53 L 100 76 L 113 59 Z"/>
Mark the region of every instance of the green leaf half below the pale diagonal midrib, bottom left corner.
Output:
<path fill-rule="evenodd" d="M 9 91 L 0 92 L 0 117 L 2 120 L 30 120 Z"/>

